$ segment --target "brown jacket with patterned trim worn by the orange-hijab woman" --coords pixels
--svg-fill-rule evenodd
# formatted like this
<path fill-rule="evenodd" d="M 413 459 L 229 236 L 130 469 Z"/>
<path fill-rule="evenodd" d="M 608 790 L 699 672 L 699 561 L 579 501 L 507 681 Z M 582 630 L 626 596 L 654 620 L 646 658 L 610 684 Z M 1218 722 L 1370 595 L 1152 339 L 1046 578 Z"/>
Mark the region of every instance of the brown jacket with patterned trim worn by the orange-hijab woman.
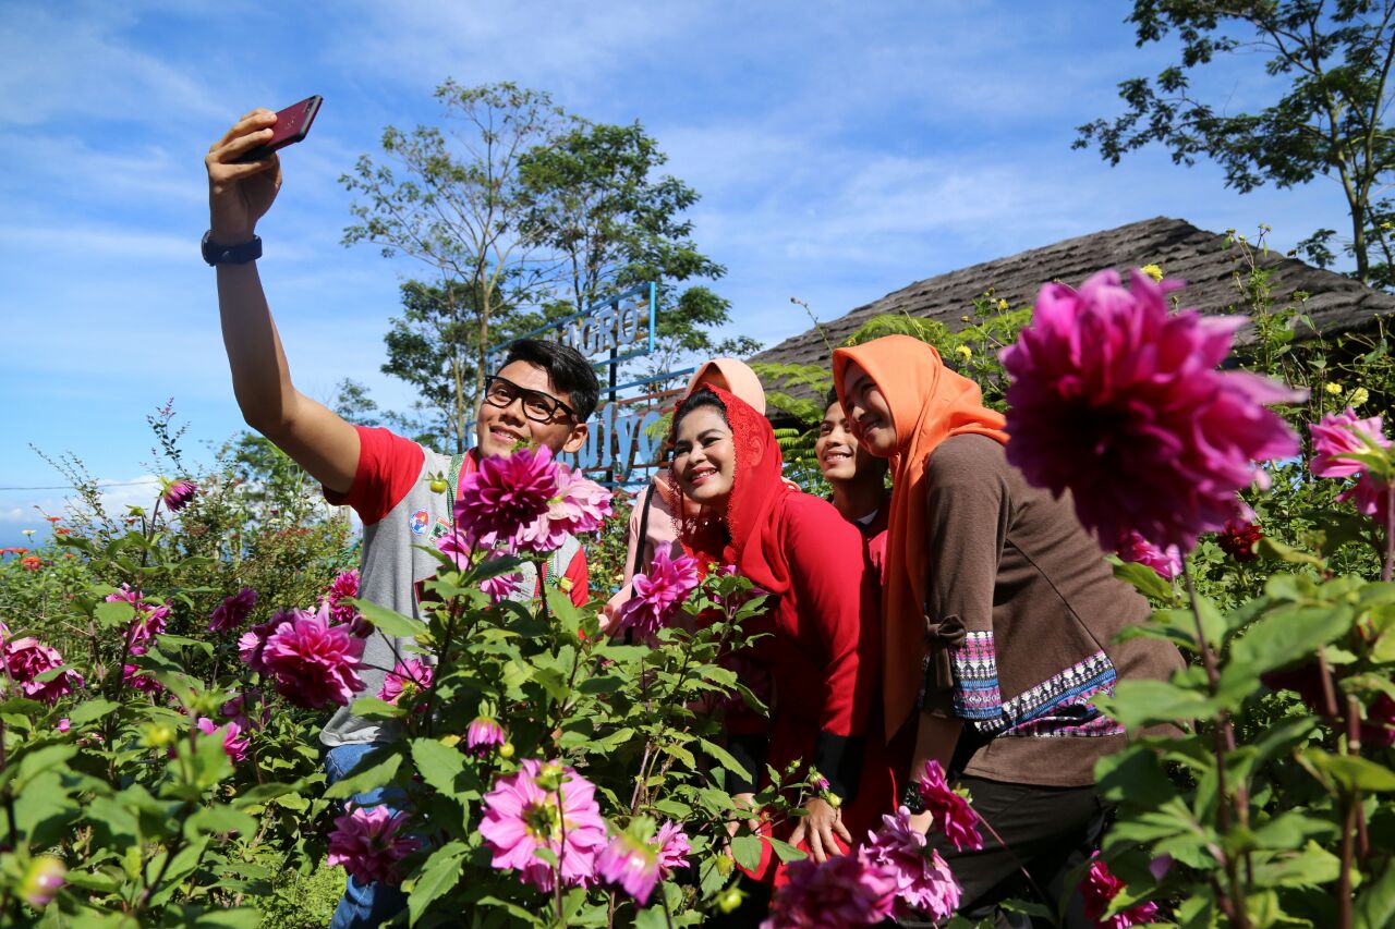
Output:
<path fill-rule="evenodd" d="M 964 773 L 1078 787 L 1126 739 L 1089 697 L 1166 678 L 1182 656 L 1117 633 L 1148 603 L 1113 577 L 1070 495 L 1030 487 L 1003 446 L 946 439 L 929 456 L 930 577 L 925 711 L 965 721 Z M 963 745 L 963 743 L 961 743 Z"/>

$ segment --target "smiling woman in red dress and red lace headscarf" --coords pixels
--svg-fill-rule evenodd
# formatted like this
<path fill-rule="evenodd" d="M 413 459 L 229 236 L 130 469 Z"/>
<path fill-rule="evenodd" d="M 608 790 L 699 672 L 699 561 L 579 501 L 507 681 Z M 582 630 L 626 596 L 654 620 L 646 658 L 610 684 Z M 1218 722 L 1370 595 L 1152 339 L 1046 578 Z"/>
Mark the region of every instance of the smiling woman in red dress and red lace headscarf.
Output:
<path fill-rule="evenodd" d="M 896 785 L 880 749 L 880 635 L 862 537 L 830 504 L 785 484 L 783 464 L 769 420 L 727 391 L 704 386 L 678 405 L 670 484 L 689 501 L 671 501 L 684 513 L 678 537 L 704 569 L 735 565 L 771 596 L 753 629 L 770 633 L 753 646 L 774 683 L 770 718 L 734 739 L 757 781 L 732 792 L 753 794 L 766 764 L 802 762 L 792 780 L 812 764 L 841 803 L 815 796 L 774 834 L 822 861 L 880 824 Z M 728 720 L 728 731 L 739 728 Z M 766 845 L 753 876 L 773 880 L 773 865 Z"/>

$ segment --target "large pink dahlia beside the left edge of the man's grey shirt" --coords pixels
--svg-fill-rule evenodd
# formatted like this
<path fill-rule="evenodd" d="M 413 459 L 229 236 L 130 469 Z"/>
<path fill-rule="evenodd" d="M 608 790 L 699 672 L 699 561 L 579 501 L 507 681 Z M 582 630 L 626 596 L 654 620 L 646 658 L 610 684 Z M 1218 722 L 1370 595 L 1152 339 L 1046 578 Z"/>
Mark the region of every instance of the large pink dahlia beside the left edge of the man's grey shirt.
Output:
<path fill-rule="evenodd" d="M 349 626 L 331 626 L 326 610 L 293 610 L 266 639 L 261 660 L 276 675 L 276 689 L 296 706 L 318 710 L 326 703 L 347 706 L 364 689 L 359 679 L 363 639 Z"/>

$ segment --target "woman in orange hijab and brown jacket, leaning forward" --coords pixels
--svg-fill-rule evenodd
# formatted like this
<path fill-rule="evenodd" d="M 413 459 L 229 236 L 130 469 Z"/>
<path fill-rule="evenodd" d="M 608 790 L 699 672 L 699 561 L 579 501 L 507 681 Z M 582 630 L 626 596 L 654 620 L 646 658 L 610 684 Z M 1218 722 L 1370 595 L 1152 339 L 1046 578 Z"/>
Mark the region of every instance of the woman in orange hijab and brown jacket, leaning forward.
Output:
<path fill-rule="evenodd" d="M 908 781 L 939 762 L 1011 849 L 932 837 L 964 886 L 961 912 L 992 916 L 1024 893 L 1018 862 L 1048 893 L 1069 890 L 1105 820 L 1095 762 L 1126 739 L 1089 699 L 1182 658 L 1156 639 L 1115 644 L 1148 604 L 1113 577 L 1070 498 L 1007 463 L 1002 414 L 933 347 L 887 336 L 837 349 L 833 377 L 859 442 L 891 463 L 886 735 L 914 732 Z M 914 810 L 918 792 L 904 801 Z"/>

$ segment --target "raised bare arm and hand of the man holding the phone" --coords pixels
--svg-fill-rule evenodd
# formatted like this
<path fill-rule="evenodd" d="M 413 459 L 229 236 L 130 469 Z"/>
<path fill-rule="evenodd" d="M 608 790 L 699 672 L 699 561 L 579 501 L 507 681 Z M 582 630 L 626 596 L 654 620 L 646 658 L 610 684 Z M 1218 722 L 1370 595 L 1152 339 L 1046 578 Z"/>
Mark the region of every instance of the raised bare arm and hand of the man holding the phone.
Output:
<path fill-rule="evenodd" d="M 215 246 L 251 241 L 280 188 L 275 153 L 236 163 L 271 138 L 276 114 L 252 110 L 213 142 L 208 167 L 209 237 Z M 218 308 L 233 393 L 247 425 L 332 491 L 347 492 L 359 466 L 359 434 L 332 410 L 296 389 L 255 262 L 218 265 Z"/>

